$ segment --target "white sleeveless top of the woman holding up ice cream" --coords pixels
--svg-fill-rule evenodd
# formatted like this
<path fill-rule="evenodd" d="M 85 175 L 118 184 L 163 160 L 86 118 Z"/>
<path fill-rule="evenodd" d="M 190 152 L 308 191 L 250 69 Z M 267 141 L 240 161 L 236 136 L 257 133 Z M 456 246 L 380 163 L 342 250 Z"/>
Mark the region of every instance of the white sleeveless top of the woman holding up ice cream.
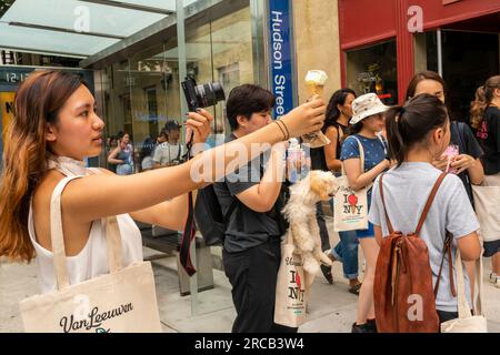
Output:
<path fill-rule="evenodd" d="M 59 160 L 67 159 L 59 158 Z M 79 165 L 81 164 L 80 162 L 71 160 L 68 160 L 67 163 L 77 163 Z M 58 169 L 66 176 L 84 176 L 89 174 L 88 171 L 78 171 L 78 169 L 76 171 L 76 169 L 68 170 L 61 166 L 52 168 Z M 81 172 L 83 172 L 83 174 L 77 174 Z M 56 187 L 54 191 L 58 189 Z M 129 214 L 118 215 L 117 221 L 121 235 L 123 266 L 128 266 L 136 262 L 141 262 L 143 260 L 142 236 L 137 224 L 133 222 Z M 106 219 L 93 221 L 89 233 L 89 240 L 87 241 L 83 250 L 76 256 L 67 257 L 68 276 L 71 285 L 93 278 L 98 275 L 109 273 L 108 247 L 106 242 L 104 225 Z M 28 232 L 37 252 L 37 263 L 40 267 L 39 277 L 41 282 L 41 292 L 49 293 L 57 290 L 53 257 L 52 252 L 46 250 L 37 242 L 32 203 L 30 203 L 30 211 L 28 215 Z"/>

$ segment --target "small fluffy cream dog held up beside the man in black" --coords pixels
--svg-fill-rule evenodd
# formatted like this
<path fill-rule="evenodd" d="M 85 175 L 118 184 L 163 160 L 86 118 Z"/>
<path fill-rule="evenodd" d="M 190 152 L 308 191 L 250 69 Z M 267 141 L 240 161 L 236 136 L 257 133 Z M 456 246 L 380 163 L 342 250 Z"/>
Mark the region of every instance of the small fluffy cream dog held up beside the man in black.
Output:
<path fill-rule="evenodd" d="M 320 231 L 316 220 L 316 204 L 330 200 L 337 192 L 336 178 L 330 172 L 311 171 L 306 179 L 290 187 L 290 201 L 283 209 L 290 223 L 287 237 L 291 236 L 296 252 L 302 255 L 303 268 L 318 274 L 320 263 L 332 265 L 321 251 Z"/>

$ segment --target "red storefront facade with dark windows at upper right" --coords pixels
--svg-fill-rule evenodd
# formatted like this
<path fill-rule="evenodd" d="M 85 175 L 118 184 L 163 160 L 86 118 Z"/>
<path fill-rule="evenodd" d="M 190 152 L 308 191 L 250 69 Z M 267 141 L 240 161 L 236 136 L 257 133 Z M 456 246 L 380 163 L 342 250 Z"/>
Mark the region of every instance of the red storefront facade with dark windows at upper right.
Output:
<path fill-rule="evenodd" d="M 444 41 L 450 40 L 446 58 L 441 31 L 446 31 Z M 480 59 L 484 59 L 491 68 L 488 72 L 478 71 L 476 75 L 498 74 L 499 33 L 500 0 L 339 0 L 342 85 L 360 82 L 368 91 L 370 81 L 374 80 L 380 94 L 389 99 L 389 103 L 401 103 L 406 100 L 406 88 L 416 71 L 434 69 L 442 72 L 448 58 L 449 71 L 458 68 L 460 60 L 463 65 L 470 67 L 471 59 L 463 53 L 473 51 L 478 41 L 484 41 L 488 50 L 481 51 L 484 45 L 478 48 L 478 64 Z M 461 52 L 457 49 L 460 41 L 466 41 Z M 497 63 L 491 60 L 496 53 Z M 394 74 L 391 67 L 394 64 L 397 79 L 391 79 L 389 77 Z M 364 68 L 367 72 L 359 72 Z M 386 93 L 382 92 L 382 73 L 389 78 L 386 80 L 388 88 L 392 85 Z"/>

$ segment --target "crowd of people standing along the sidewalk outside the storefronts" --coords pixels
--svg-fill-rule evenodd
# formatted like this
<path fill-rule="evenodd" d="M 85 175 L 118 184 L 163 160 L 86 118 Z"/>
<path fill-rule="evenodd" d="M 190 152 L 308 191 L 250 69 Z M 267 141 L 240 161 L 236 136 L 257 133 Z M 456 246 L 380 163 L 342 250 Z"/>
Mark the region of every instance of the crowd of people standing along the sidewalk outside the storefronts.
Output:
<path fill-rule="evenodd" d="M 102 217 L 119 216 L 126 246 L 123 256 L 130 264 L 142 260 L 140 232 L 132 219 L 182 230 L 188 217 L 187 193 L 216 182 L 216 195 L 228 214 L 222 261 L 237 311 L 232 331 L 297 332 L 274 323 L 280 243 L 286 232 L 281 210 L 287 196 L 283 191 L 290 184 L 273 179 L 286 175 L 286 149 L 276 143 L 322 130 L 331 142 L 311 151 L 312 169 L 338 176 L 346 174 L 354 191 L 369 189 L 369 227 L 340 232 L 340 242 L 334 247 L 329 243 L 322 206 L 317 206 L 322 248 L 331 261 L 342 263 L 344 277 L 349 280 L 348 291 L 359 295 L 352 332 L 377 332 L 373 284 L 381 241 L 392 229 L 387 224 L 387 216 L 394 230 L 407 234 L 414 231 L 416 219 L 443 171 L 449 174 L 420 237 L 428 246 L 436 284 L 447 232 L 453 235 L 452 250 L 461 252 L 469 274 L 467 280 L 471 281 L 467 282 L 470 302 L 473 263 L 481 257 L 472 186 L 500 186 L 500 77 L 490 78 L 478 89 L 471 106 L 472 130 L 449 116 L 446 92 L 442 78 L 428 71 L 413 78 L 407 102 L 401 106 L 387 106 L 373 93 L 357 97 L 353 90 L 341 89 L 331 97 L 328 106 L 316 97 L 273 121 L 273 94 L 258 85 L 243 84 L 233 89 L 227 100 L 231 134 L 226 144 L 184 161 L 180 126 L 170 121 L 156 141 L 151 138 L 144 141 L 138 154 L 141 173 L 121 179 L 117 175 L 138 171 L 130 135 L 122 133 L 108 142 L 112 172 L 88 173 L 82 161 L 98 155 L 103 145 L 104 123 L 93 110 L 93 97 L 79 77 L 58 71 L 36 72 L 18 91 L 17 115 L 4 144 L 0 256 L 23 261 L 39 256 L 42 292 L 56 290 L 50 200 L 66 176 L 72 181 L 62 192 L 61 211 L 66 253 L 72 257 L 69 265 L 72 284 L 108 272 L 106 252 L 86 246 L 106 239 L 100 225 Z M 192 143 L 207 142 L 212 121 L 204 110 L 189 113 L 187 135 L 192 135 Z M 262 152 L 251 149 L 257 143 L 274 144 L 267 162 Z M 244 149 L 248 159 L 234 164 L 228 149 L 238 145 Z M 450 145 L 457 149 L 453 156 L 447 155 Z M 216 170 L 210 173 L 211 179 L 194 182 L 193 164 L 216 156 L 229 170 L 222 175 Z M 384 203 L 379 189 L 381 174 L 384 175 Z M 362 281 L 359 245 L 366 261 Z M 500 235 L 482 247 L 483 256 L 492 257 L 490 280 L 500 287 Z M 458 317 L 457 298 L 447 287 L 453 282 L 450 280 L 453 273 L 446 267 L 436 296 L 440 322 Z M 331 268 L 323 265 L 322 271 L 332 283 Z"/>

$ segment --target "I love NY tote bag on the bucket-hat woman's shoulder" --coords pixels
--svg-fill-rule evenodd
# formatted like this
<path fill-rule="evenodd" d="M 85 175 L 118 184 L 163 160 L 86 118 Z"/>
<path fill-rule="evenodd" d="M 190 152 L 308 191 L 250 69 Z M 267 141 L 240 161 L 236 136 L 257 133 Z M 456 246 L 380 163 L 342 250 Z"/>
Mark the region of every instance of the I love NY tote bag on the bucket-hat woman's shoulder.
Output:
<path fill-rule="evenodd" d="M 364 150 L 358 141 L 361 172 L 364 172 Z M 343 171 L 342 176 L 337 178 L 339 189 L 333 197 L 333 231 L 346 232 L 356 230 L 368 230 L 368 190 L 367 186 L 359 191 L 353 191 L 349 185 L 349 180 Z"/>

